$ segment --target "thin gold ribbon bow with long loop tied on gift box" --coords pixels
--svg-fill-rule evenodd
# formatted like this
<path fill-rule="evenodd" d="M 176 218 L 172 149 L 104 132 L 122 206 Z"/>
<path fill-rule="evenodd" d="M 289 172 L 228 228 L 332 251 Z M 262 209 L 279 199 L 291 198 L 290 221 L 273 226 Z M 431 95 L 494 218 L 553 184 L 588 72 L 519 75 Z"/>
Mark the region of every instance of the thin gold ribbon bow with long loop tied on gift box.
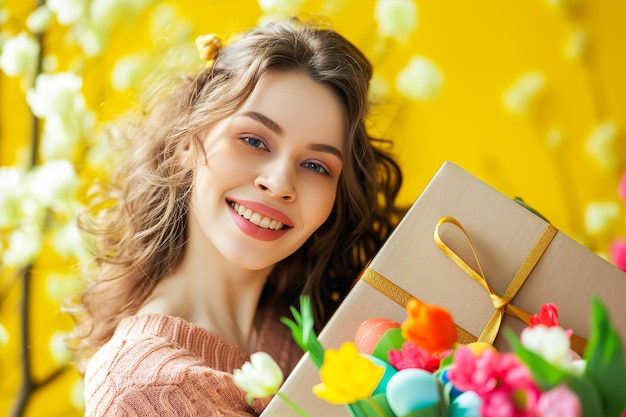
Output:
<path fill-rule="evenodd" d="M 478 265 L 478 270 L 480 271 L 480 273 L 476 272 L 476 270 L 469 266 L 463 259 L 461 259 L 459 255 L 457 255 L 443 242 L 441 236 L 439 235 L 439 228 L 445 223 L 452 223 L 457 226 L 461 230 L 461 232 L 463 232 L 463 235 L 467 239 L 470 249 L 472 250 L 472 254 L 474 255 L 474 259 L 476 260 L 476 264 Z M 537 262 L 539 262 L 539 259 L 541 259 L 541 256 L 550 245 L 550 242 L 552 242 L 554 236 L 556 236 L 557 231 L 558 230 L 556 229 L 556 227 L 548 224 L 539 239 L 535 242 L 535 245 L 522 263 L 522 266 L 515 273 L 515 276 L 504 291 L 504 294 L 500 296 L 496 294 L 489 286 L 489 283 L 485 278 L 485 273 L 483 272 L 482 266 L 480 265 L 478 255 L 476 254 L 476 249 L 472 244 L 469 234 L 465 231 L 461 223 L 454 217 L 442 217 L 439 220 L 439 222 L 437 223 L 437 227 L 435 227 L 434 236 L 437 246 L 448 258 L 450 258 L 459 268 L 461 268 L 463 272 L 465 272 L 474 281 L 476 281 L 484 289 L 487 290 L 487 292 L 489 293 L 489 298 L 493 303 L 493 315 L 483 329 L 483 332 L 478 337 L 478 341 L 486 342 L 489 344 L 493 343 L 496 336 L 498 335 L 498 331 L 500 330 L 500 325 L 502 323 L 502 318 L 505 313 L 524 321 L 526 324 L 529 323 L 530 313 L 512 305 L 511 301 L 513 300 L 513 298 L 515 298 L 517 292 L 526 282 L 526 279 L 535 268 L 535 265 L 537 265 Z"/>

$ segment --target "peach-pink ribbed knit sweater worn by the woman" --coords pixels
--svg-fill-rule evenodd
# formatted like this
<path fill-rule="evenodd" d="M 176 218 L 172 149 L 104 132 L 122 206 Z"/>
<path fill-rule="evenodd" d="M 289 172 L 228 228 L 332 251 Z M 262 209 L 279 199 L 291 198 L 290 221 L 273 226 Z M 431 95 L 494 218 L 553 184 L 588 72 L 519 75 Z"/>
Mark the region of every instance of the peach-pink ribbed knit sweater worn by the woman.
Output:
<path fill-rule="evenodd" d="M 257 351 L 272 355 L 285 376 L 302 351 L 278 311 L 262 313 Z M 128 317 L 85 372 L 87 417 L 259 415 L 270 398 L 248 405 L 232 372 L 249 355 L 181 318 Z"/>

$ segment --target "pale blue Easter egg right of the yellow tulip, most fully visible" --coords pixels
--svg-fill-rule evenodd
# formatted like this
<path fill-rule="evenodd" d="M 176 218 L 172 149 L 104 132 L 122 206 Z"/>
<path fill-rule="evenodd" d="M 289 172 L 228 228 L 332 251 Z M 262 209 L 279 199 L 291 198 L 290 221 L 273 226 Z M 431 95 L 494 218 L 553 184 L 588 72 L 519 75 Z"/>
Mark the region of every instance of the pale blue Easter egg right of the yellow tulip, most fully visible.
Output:
<path fill-rule="evenodd" d="M 423 369 L 402 369 L 387 382 L 387 402 L 397 416 L 421 410 L 440 401 L 437 378 Z"/>

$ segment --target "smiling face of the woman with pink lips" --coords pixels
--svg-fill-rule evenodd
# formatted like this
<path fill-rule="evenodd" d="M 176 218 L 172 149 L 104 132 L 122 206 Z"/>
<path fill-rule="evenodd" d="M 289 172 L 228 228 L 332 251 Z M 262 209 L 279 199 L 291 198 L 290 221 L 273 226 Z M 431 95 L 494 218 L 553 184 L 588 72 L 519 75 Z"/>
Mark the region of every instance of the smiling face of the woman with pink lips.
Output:
<path fill-rule="evenodd" d="M 296 251 L 333 208 L 346 124 L 327 86 L 297 72 L 262 75 L 241 109 L 203 138 L 187 249 L 250 270 Z"/>

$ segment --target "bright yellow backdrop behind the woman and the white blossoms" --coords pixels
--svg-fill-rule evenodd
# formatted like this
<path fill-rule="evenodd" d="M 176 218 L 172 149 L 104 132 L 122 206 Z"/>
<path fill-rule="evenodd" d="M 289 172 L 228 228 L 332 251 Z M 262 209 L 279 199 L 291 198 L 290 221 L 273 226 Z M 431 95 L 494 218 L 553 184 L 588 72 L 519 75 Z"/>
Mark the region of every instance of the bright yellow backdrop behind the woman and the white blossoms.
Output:
<path fill-rule="evenodd" d="M 174 2 L 172 2 L 174 4 Z M 598 253 L 608 242 L 625 236 L 624 213 L 618 225 L 602 236 L 584 229 L 584 210 L 594 201 L 616 201 L 620 169 L 607 171 L 585 151 L 597 123 L 626 123 L 626 2 L 582 1 L 577 13 L 549 7 L 543 0 L 419 0 L 418 26 L 406 43 L 390 41 L 383 54 L 374 20 L 373 0 L 305 1 L 302 11 L 328 15 L 335 28 L 360 46 L 375 64 L 377 75 L 389 83 L 386 104 L 374 108 L 375 132 L 395 141 L 394 151 L 404 169 L 402 200 L 410 203 L 445 160 L 451 160 L 504 194 L 521 196 L 559 229 Z M 0 2 L 1 4 L 1 2 Z M 186 0 L 176 2 L 180 18 L 195 36 L 227 34 L 254 25 L 262 15 L 252 0 Z M 15 35 L 32 3 L 6 1 L 12 13 L 4 30 Z M 115 92 L 109 76 L 116 59 L 137 50 L 151 50 L 147 16 L 120 24 L 110 35 L 107 51 L 84 63 L 84 92 L 99 120 L 106 121 L 133 102 L 128 92 Z M 574 28 L 589 34 L 587 59 L 572 62 L 563 49 Z M 45 35 L 46 53 L 58 55 L 60 70 L 69 68 L 75 50 L 64 44 L 65 29 L 54 25 Z M 444 77 L 440 96 L 411 102 L 394 91 L 394 77 L 413 55 L 432 60 Z M 517 117 L 502 105 L 502 95 L 519 76 L 539 71 L 546 90 L 536 118 Z M 20 80 L 0 76 L 0 164 L 24 160 L 31 135 L 31 116 Z M 546 145 L 546 133 L 558 128 L 563 144 Z M 623 129 L 623 128 L 622 128 Z M 623 144 L 624 131 L 618 141 Z M 623 151 L 623 147 L 617 152 Z M 51 270 L 68 266 L 54 256 L 42 256 L 34 274 L 31 353 L 34 373 L 53 371 L 48 340 L 67 329 L 69 320 L 58 312 L 58 300 L 45 295 Z M 17 315 L 18 285 L 7 285 L 0 321 L 9 332 L 9 344 L 0 347 L 0 415 L 9 409 L 19 382 Z M 36 393 L 28 416 L 81 415 L 70 401 L 77 374 L 68 370 Z"/>

